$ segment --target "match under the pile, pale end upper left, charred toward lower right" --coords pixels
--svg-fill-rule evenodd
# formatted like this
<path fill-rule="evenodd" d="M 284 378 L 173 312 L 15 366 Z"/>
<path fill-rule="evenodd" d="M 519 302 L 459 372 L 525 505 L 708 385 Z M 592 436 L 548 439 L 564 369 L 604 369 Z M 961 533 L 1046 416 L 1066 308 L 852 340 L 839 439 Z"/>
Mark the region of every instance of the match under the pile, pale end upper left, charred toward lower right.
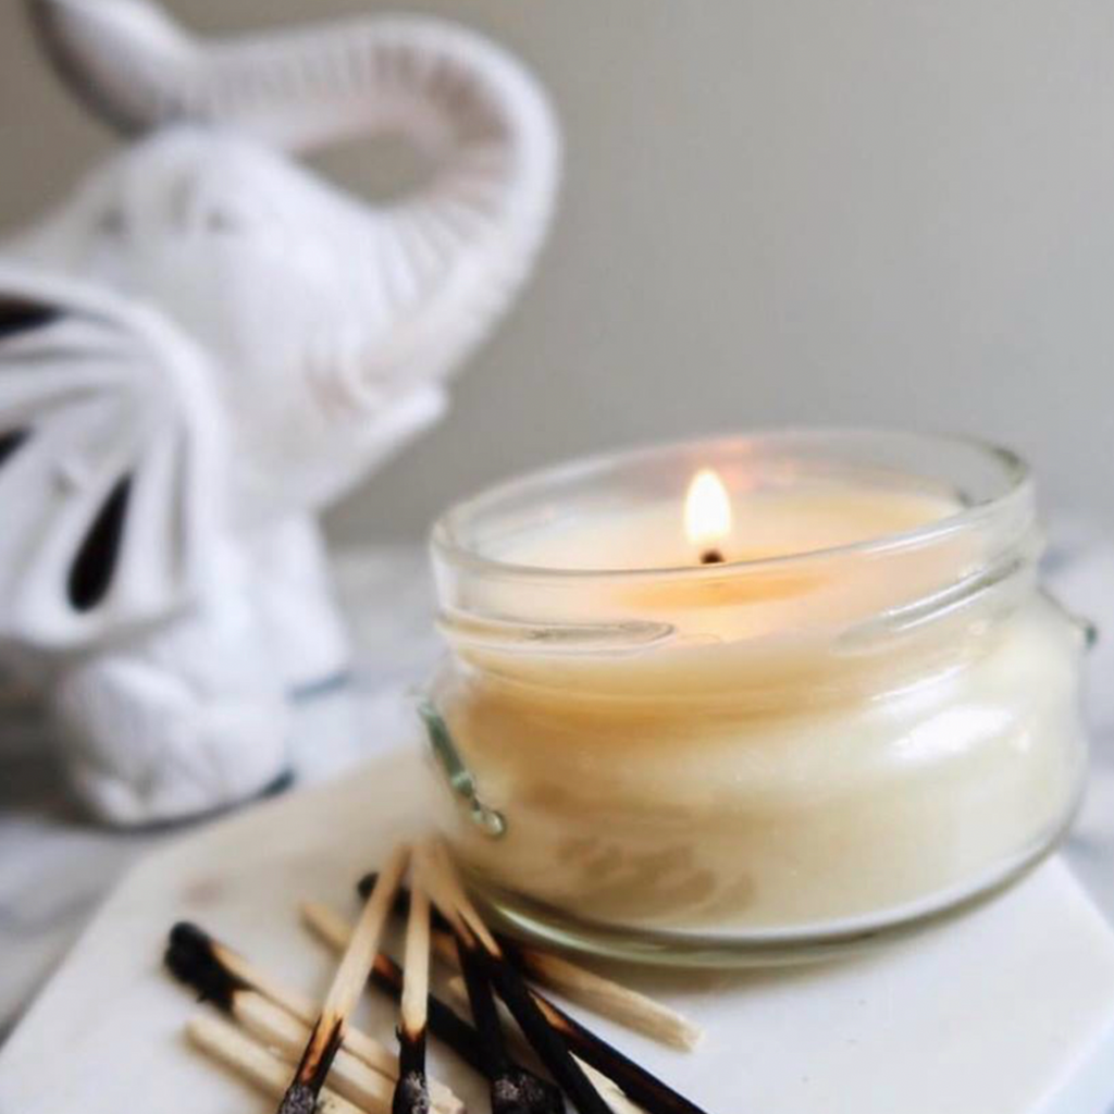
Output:
<path fill-rule="evenodd" d="M 352 928 L 344 917 L 315 901 L 304 902 L 301 911 L 306 927 L 319 939 L 334 950 L 343 950 L 346 947 Z M 431 917 L 436 916 L 436 910 L 431 910 Z M 456 945 L 453 944 L 452 947 L 455 948 Z M 390 957 L 382 952 L 375 960 L 370 981 L 377 989 L 391 997 L 401 997 L 402 971 Z M 473 1067 L 481 1075 L 488 1076 L 490 1062 L 479 1033 L 436 995 L 429 996 L 427 1010 L 429 1032 L 456 1052 L 470 1067 Z M 509 1065 L 511 1071 L 522 1081 L 524 1092 L 537 1096 L 538 1105 L 527 1107 L 527 1110 L 532 1111 L 534 1114 L 549 1114 L 549 1112 L 564 1110 L 560 1091 L 557 1087 L 522 1067 L 514 1058 L 509 1059 Z M 490 1078 L 490 1076 L 488 1077 Z"/>

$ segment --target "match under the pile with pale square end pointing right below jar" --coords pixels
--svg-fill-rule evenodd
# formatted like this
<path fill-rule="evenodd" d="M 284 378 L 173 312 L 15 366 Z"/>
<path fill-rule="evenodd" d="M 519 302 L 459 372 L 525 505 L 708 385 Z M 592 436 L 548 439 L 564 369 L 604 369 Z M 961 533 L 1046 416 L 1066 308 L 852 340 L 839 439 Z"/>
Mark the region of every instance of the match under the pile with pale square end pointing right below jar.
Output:
<path fill-rule="evenodd" d="M 363 898 L 371 892 L 375 877 L 374 873 L 370 873 L 360 879 L 356 888 Z M 402 886 L 394 899 L 395 912 L 405 916 L 408 902 L 409 895 L 407 888 Z M 442 936 L 448 934 L 449 926 L 443 918 L 434 916 L 432 924 L 434 931 L 440 931 Z M 504 955 L 516 964 L 527 978 L 557 990 L 578 1006 L 584 1006 L 602 1017 L 610 1018 L 628 1029 L 683 1052 L 692 1052 L 704 1036 L 704 1030 L 698 1025 L 637 990 L 620 986 L 561 956 L 519 944 L 499 932 L 492 931 L 491 935 L 499 942 Z M 438 954 L 443 958 L 448 959 L 456 951 L 455 945 L 450 949 L 444 946 L 443 940 L 434 939 L 433 942 Z"/>

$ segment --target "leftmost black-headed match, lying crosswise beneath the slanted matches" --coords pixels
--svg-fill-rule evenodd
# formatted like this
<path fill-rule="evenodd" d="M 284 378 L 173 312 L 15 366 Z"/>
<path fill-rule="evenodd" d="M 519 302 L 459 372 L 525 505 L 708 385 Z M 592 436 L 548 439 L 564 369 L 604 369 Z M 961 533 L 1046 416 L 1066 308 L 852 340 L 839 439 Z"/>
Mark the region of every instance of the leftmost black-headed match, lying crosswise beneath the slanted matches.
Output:
<path fill-rule="evenodd" d="M 345 945 L 346 942 L 345 937 Z M 338 950 L 344 949 L 342 947 Z M 310 1026 L 317 1015 L 317 1006 L 311 998 L 278 983 L 237 951 L 188 922 L 175 925 L 170 930 L 166 965 L 179 981 L 193 987 L 203 1000 L 212 1001 L 246 1029 L 297 1061 L 305 1047 Z M 389 1106 L 393 1083 L 399 1075 L 398 1057 L 374 1037 L 352 1026 L 344 1034 L 343 1047 L 370 1072 L 382 1077 L 382 1089 Z M 345 1074 L 360 1076 L 361 1073 L 345 1073 L 344 1067 L 345 1064 L 338 1057 L 333 1073 L 336 1089 L 348 1095 L 343 1085 Z M 367 1082 L 370 1087 L 370 1081 Z M 463 1103 L 457 1095 L 436 1079 L 430 1079 L 429 1086 L 433 1105 L 441 1114 L 459 1114 Z M 353 1102 L 361 1102 L 354 1094 L 348 1097 Z"/>

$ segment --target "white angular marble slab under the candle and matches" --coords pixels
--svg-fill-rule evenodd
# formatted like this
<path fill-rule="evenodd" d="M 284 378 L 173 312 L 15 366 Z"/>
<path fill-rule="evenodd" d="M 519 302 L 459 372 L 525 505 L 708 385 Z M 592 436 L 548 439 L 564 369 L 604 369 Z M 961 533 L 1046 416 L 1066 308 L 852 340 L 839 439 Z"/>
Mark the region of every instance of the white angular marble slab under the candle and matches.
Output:
<path fill-rule="evenodd" d="M 149 854 L 0 1052 L 0 1111 L 266 1111 L 183 1043 L 186 1018 L 208 1007 L 162 971 L 166 930 L 195 919 L 320 993 L 328 959 L 295 903 L 353 908 L 352 880 L 421 823 L 418 773 L 409 752 L 382 759 Z M 1114 1096 L 1114 935 L 1057 860 L 973 913 L 853 961 L 638 981 L 706 1025 L 701 1051 L 596 1027 L 713 1114 L 1100 1114 Z M 390 1007 L 367 1008 L 387 1036 Z M 486 1108 L 470 1073 L 448 1059 L 439 1069 Z"/>

